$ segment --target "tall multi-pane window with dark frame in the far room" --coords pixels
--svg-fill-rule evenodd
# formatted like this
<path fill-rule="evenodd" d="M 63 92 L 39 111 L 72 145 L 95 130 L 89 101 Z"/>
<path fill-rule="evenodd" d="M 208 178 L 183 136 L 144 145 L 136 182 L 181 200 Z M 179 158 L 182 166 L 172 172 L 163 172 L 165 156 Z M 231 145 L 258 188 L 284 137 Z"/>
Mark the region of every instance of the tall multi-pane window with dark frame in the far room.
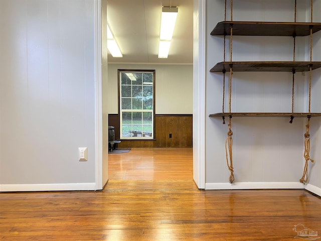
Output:
<path fill-rule="evenodd" d="M 120 139 L 153 139 L 154 70 L 118 70 Z"/>

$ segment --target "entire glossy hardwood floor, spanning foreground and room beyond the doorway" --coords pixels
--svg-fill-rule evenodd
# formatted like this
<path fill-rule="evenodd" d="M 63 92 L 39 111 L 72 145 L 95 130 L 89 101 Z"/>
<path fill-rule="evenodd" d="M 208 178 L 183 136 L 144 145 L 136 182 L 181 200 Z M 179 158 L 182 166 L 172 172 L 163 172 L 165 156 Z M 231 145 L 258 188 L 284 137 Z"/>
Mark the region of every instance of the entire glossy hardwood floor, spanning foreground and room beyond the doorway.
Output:
<path fill-rule="evenodd" d="M 103 191 L 0 193 L 0 240 L 295 240 L 296 224 L 321 234 L 321 199 L 304 190 L 197 189 L 191 149 L 109 154 L 109 172 Z"/>

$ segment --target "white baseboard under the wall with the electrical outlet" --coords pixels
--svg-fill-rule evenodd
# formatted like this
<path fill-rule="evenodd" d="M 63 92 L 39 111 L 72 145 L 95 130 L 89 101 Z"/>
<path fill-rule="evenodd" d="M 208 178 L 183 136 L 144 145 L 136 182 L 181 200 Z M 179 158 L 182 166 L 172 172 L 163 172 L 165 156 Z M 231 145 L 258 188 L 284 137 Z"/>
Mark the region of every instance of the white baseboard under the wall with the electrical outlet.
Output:
<path fill-rule="evenodd" d="M 95 183 L 1 184 L 0 192 L 88 191 L 95 190 L 95 186 Z"/>

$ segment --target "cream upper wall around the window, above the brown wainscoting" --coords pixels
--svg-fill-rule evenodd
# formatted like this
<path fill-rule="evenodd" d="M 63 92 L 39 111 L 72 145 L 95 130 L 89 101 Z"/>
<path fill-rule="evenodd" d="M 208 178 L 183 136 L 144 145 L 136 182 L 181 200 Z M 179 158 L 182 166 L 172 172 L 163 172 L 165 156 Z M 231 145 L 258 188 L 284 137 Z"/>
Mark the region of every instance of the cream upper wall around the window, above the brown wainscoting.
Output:
<path fill-rule="evenodd" d="M 118 113 L 118 69 L 155 70 L 155 114 L 193 113 L 193 65 L 108 63 L 109 113 Z"/>

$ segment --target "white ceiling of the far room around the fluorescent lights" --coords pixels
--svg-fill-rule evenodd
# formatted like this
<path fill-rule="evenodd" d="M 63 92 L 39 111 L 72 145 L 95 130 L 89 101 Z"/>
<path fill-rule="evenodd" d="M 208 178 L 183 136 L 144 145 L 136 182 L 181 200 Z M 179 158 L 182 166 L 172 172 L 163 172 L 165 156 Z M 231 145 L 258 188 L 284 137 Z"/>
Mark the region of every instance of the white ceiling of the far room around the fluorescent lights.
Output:
<path fill-rule="evenodd" d="M 178 7 L 169 57 L 158 59 L 163 7 Z M 108 62 L 193 63 L 193 0 L 108 0 L 107 21 L 123 54 Z"/>

